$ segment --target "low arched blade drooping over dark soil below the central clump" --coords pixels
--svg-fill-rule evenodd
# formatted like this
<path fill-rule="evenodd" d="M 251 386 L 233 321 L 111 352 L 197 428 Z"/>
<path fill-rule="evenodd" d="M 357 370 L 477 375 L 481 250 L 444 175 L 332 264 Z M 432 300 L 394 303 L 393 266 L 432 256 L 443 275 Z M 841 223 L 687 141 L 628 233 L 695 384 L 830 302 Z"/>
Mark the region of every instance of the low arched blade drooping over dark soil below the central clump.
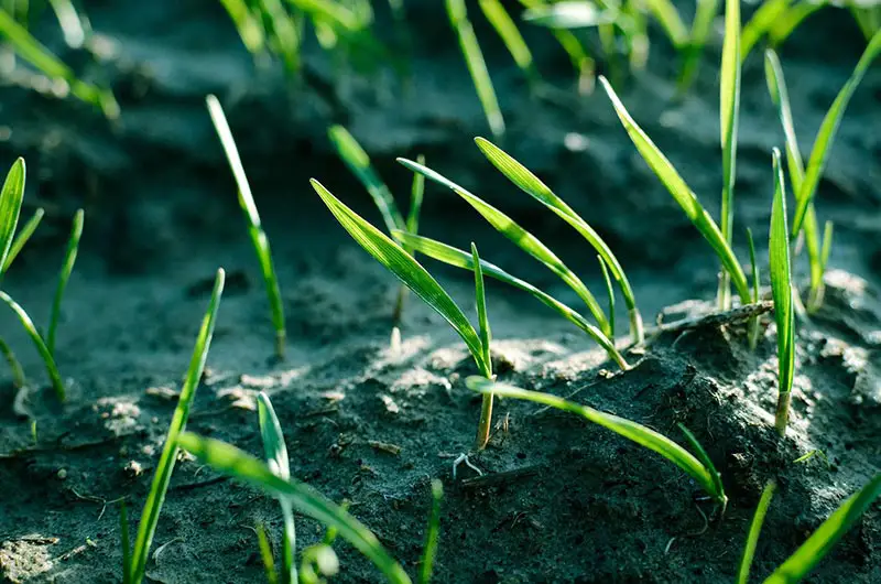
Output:
<path fill-rule="evenodd" d="M 600 412 L 587 405 L 566 401 L 557 396 L 542 393 L 540 391 L 529 391 L 505 383 L 497 383 L 477 376 L 469 377 L 466 380 L 466 385 L 469 389 L 481 393 L 494 393 L 500 398 L 534 401 L 535 403 L 542 403 L 558 410 L 578 414 L 589 422 L 611 430 L 616 434 L 660 454 L 694 478 L 717 502 L 724 504 L 727 500 L 725 491 L 718 490 L 718 486 L 720 485 L 718 475 L 714 477 L 714 473 L 692 453 L 650 428 L 610 413 Z"/>

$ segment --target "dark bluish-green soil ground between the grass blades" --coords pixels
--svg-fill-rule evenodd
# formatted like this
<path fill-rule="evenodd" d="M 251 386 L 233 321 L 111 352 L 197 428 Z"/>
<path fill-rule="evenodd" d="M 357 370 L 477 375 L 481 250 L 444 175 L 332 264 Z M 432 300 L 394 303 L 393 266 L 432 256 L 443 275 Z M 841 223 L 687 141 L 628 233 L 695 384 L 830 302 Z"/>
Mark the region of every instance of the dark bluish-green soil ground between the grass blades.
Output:
<path fill-rule="evenodd" d="M 533 299 L 489 283 L 493 358 L 501 380 L 536 388 L 648 424 L 682 442 L 698 437 L 718 466 L 730 504 L 724 518 L 696 484 L 643 448 L 580 419 L 505 401 L 490 446 L 472 445 L 479 399 L 461 342 L 415 299 L 400 353 L 389 348 L 396 283 L 349 239 L 309 188 L 318 177 L 371 221 L 376 208 L 333 152 L 326 128 L 344 122 L 380 174 L 407 193 L 394 156 L 428 164 L 526 225 L 602 290 L 595 253 L 577 234 L 505 182 L 471 137 L 486 134 L 440 2 L 407 2 L 411 76 L 356 72 L 311 47 L 305 80 L 254 66 L 218 2 L 85 2 L 116 54 L 96 65 L 65 50 L 48 14 L 37 36 L 84 75 L 105 76 L 122 107 L 118 126 L 88 107 L 33 89 L 2 89 L 0 152 L 24 155 L 30 215 L 47 218 L 10 270 L 4 289 L 37 323 L 48 314 L 74 210 L 86 230 L 67 289 L 57 360 L 69 397 L 59 404 L 12 315 L 0 316 L 31 390 L 17 413 L 0 371 L 0 574 L 10 582 L 119 582 L 115 500 L 137 521 L 175 391 L 218 266 L 229 273 L 208 371 L 188 429 L 261 453 L 254 397 L 268 391 L 281 419 L 292 474 L 369 526 L 415 572 L 431 479 L 445 486 L 435 582 L 732 582 L 749 521 L 766 480 L 779 483 L 759 542 L 754 581 L 788 556 L 841 500 L 881 467 L 881 69 L 853 96 L 819 186 L 820 220 L 836 224 L 827 301 L 798 325 L 792 426 L 773 431 L 775 329 L 769 317 L 754 352 L 742 325 L 657 337 L 619 372 L 589 339 Z M 749 12 L 749 11 L 748 11 Z M 822 15 L 820 15 L 822 14 Z M 639 159 L 605 96 L 579 97 L 565 55 L 526 30 L 553 100 L 531 97 L 492 32 L 481 24 L 509 133 L 503 145 L 600 231 L 627 269 L 648 322 L 713 310 L 711 250 Z M 390 30 L 380 11 L 380 29 Z M 656 32 L 656 31 L 655 31 Z M 720 152 L 714 34 L 700 76 L 674 100 L 675 55 L 660 35 L 646 71 L 621 95 L 714 215 Z M 823 10 L 781 50 L 803 151 L 863 47 L 845 12 Z M 407 54 L 407 53 L 405 53 Z M 287 313 L 289 350 L 273 335 L 258 266 L 204 107 L 217 94 L 230 118 L 273 245 Z M 768 257 L 771 155 L 782 145 L 760 52 L 743 72 L 737 228 Z M 423 232 L 481 256 L 576 305 L 552 274 L 494 234 L 464 202 L 428 186 Z M 746 258 L 746 237 L 737 251 Z M 585 253 L 587 251 L 587 253 Z M 804 271 L 805 260 L 797 262 Z M 425 262 L 463 306 L 468 274 Z M 765 270 L 766 273 L 766 270 Z M 684 302 L 688 299 L 696 299 Z M 619 299 L 620 300 L 620 299 Z M 619 302 L 619 305 L 622 304 Z M 673 305 L 671 309 L 665 306 Z M 623 314 L 619 323 L 626 322 Z M 622 327 L 619 334 L 623 335 Z M 501 422 L 504 422 L 501 424 Z M 393 445 L 394 447 L 389 447 Z M 396 451 L 400 447 L 400 452 Z M 794 463 L 820 450 L 822 456 Z M 261 582 L 253 526 L 278 533 L 276 504 L 194 461 L 177 465 L 148 565 L 154 582 Z M 323 528 L 298 519 L 301 545 Z M 378 582 L 374 569 L 337 544 L 335 582 Z M 808 578 L 881 582 L 875 506 Z"/>

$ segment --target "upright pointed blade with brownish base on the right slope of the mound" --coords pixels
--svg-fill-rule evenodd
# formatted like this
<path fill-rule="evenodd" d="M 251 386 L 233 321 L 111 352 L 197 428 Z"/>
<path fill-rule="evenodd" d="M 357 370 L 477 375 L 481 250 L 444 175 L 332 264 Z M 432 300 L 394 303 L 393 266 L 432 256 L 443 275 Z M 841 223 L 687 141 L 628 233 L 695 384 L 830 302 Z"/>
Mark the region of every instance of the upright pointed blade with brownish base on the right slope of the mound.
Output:
<path fill-rule="evenodd" d="M 795 371 L 795 310 L 793 307 L 790 240 L 786 228 L 786 194 L 780 151 L 774 149 L 774 204 L 771 208 L 771 232 L 768 242 L 774 320 L 777 324 L 779 396 L 775 428 L 782 436 L 790 419 L 790 400 Z"/>

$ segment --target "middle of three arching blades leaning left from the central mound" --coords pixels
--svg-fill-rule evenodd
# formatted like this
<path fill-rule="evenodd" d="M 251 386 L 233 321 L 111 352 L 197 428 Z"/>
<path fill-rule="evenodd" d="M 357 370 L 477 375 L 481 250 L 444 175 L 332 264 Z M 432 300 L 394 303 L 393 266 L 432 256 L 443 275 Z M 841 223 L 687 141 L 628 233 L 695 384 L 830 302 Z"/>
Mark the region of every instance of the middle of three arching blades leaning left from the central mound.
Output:
<path fill-rule="evenodd" d="M 413 171 L 432 181 L 450 188 L 454 193 L 464 198 L 496 230 L 507 237 L 511 242 L 520 249 L 532 256 L 534 259 L 544 264 L 548 270 L 554 272 L 566 285 L 568 285 L 579 299 L 587 305 L 590 314 L 597 320 L 600 329 L 609 336 L 609 323 L 602 307 L 599 305 L 594 294 L 588 290 L 585 283 L 573 272 L 556 253 L 545 246 L 539 238 L 523 229 L 511 217 L 486 203 L 477 195 L 466 191 L 464 187 L 446 179 L 442 174 L 415 163 L 406 159 L 398 159 L 398 161 Z M 536 179 L 537 180 L 537 179 Z"/>

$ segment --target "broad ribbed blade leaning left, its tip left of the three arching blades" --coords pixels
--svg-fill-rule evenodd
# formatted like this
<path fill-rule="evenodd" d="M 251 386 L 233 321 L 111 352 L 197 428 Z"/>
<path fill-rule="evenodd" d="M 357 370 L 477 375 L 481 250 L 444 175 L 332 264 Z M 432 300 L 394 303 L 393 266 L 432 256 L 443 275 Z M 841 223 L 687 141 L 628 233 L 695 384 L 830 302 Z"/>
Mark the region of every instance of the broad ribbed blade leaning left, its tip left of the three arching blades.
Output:
<path fill-rule="evenodd" d="M 406 250 L 344 205 L 318 181 L 313 179 L 311 182 L 315 192 L 352 239 L 443 316 L 468 346 L 478 368 L 486 372 L 489 366 L 483 360 L 483 347 L 475 327 L 432 274 Z"/>

